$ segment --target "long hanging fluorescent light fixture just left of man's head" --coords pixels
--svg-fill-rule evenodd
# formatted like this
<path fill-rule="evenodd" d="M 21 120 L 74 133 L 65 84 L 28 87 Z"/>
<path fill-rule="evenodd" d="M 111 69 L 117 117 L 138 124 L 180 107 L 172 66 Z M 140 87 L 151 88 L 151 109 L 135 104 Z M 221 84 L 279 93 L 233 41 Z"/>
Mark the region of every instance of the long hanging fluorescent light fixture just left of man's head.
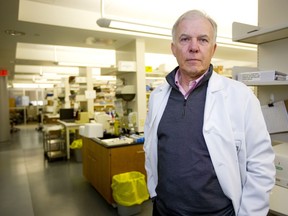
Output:
<path fill-rule="evenodd" d="M 107 18 L 100 18 L 97 20 L 97 24 L 103 28 L 112 28 L 125 31 L 142 32 L 148 34 L 156 34 L 163 36 L 171 36 L 171 29 L 163 28 L 152 25 L 145 25 L 121 20 L 112 20 Z"/>

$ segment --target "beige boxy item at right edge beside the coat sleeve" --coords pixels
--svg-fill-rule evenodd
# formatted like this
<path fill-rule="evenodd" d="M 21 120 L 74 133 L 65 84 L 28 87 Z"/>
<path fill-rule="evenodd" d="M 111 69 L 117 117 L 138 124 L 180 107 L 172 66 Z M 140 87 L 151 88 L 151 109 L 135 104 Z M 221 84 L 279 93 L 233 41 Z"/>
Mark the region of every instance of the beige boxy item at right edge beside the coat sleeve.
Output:
<path fill-rule="evenodd" d="M 273 146 L 275 152 L 276 184 L 288 188 L 288 143 Z"/>

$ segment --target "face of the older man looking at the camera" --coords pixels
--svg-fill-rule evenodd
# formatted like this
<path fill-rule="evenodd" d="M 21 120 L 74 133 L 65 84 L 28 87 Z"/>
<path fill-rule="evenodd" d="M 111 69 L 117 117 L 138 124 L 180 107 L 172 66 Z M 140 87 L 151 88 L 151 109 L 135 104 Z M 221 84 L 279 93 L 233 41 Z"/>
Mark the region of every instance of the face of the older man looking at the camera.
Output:
<path fill-rule="evenodd" d="M 180 72 L 192 80 L 197 79 L 209 68 L 216 50 L 212 25 L 204 18 L 182 20 L 171 50 Z"/>

